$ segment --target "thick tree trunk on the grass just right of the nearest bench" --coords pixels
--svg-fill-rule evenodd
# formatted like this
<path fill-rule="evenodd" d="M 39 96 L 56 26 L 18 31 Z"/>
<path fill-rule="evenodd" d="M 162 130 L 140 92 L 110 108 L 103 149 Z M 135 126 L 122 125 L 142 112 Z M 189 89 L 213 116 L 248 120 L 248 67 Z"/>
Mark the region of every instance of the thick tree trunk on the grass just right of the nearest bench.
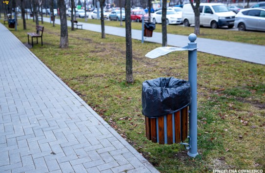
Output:
<path fill-rule="evenodd" d="M 58 7 L 60 9 L 60 22 L 61 22 L 61 38 L 60 47 L 68 47 L 68 28 L 67 28 L 67 18 L 66 18 L 66 6 L 64 0 L 58 0 Z"/>

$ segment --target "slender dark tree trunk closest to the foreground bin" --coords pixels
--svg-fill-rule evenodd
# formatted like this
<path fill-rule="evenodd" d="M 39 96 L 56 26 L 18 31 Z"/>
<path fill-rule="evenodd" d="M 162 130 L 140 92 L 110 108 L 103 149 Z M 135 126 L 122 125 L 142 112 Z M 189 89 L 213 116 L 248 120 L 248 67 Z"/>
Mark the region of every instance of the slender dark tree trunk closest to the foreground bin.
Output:
<path fill-rule="evenodd" d="M 125 0 L 126 83 L 133 83 L 131 0 Z"/>

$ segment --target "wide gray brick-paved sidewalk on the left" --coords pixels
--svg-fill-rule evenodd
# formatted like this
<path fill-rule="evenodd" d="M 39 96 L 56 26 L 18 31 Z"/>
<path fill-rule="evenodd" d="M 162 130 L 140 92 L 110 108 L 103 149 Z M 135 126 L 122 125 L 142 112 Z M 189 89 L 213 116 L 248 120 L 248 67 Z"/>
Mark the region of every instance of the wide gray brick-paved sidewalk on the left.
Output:
<path fill-rule="evenodd" d="M 158 171 L 0 24 L 0 172 Z"/>

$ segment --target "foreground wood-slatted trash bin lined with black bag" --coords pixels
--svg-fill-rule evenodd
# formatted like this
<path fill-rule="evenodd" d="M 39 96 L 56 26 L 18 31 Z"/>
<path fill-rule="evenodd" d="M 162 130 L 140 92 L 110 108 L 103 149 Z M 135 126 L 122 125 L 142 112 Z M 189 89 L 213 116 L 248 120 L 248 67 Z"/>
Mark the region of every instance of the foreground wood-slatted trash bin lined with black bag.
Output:
<path fill-rule="evenodd" d="M 190 84 L 182 79 L 157 78 L 143 82 L 142 107 L 146 137 L 159 144 L 187 138 Z"/>

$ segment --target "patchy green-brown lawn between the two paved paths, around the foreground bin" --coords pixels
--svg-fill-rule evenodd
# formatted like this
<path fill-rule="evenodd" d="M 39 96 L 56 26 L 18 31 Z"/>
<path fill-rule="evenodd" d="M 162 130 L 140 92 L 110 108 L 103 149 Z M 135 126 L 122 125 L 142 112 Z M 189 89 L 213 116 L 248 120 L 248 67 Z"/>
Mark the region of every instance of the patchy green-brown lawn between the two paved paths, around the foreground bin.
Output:
<path fill-rule="evenodd" d="M 101 33 L 69 29 L 70 46 L 61 49 L 60 26 L 43 25 L 44 44 L 31 51 L 160 172 L 265 169 L 264 65 L 198 52 L 200 155 L 190 158 L 179 144 L 158 145 L 145 138 L 141 106 L 144 80 L 169 76 L 187 80 L 187 52 L 148 59 L 144 55 L 161 45 L 133 40 L 135 82 L 126 84 L 125 38 L 101 39 Z M 26 32 L 34 31 L 34 23 L 27 21 L 27 28 L 22 30 L 20 21 L 18 31 L 11 31 L 27 43 Z"/>

